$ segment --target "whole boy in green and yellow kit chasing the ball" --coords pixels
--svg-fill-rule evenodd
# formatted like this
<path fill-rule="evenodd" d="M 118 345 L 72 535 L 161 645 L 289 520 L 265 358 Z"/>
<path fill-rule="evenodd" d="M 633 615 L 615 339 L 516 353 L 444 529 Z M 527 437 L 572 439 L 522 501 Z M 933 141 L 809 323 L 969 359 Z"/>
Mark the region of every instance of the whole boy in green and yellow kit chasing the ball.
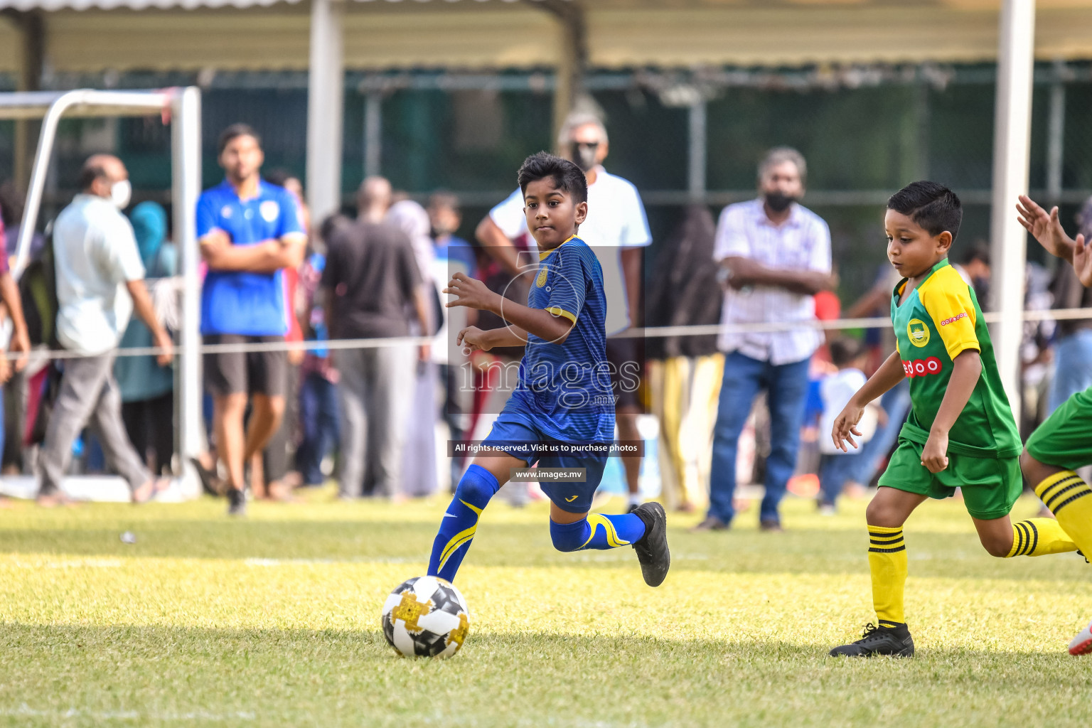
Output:
<path fill-rule="evenodd" d="M 911 413 L 868 505 L 868 565 L 878 625 L 831 655 L 911 656 L 903 613 L 906 546 L 902 525 L 928 498 L 961 488 L 978 538 L 996 557 L 1076 551 L 1057 521 L 1009 521 L 1023 488 L 1020 435 L 1001 386 L 974 290 L 948 264 L 963 211 L 936 182 L 914 182 L 888 201 L 888 259 L 904 276 L 891 296 L 898 350 L 835 418 L 832 437 L 856 446 L 865 406 L 910 379 Z"/>

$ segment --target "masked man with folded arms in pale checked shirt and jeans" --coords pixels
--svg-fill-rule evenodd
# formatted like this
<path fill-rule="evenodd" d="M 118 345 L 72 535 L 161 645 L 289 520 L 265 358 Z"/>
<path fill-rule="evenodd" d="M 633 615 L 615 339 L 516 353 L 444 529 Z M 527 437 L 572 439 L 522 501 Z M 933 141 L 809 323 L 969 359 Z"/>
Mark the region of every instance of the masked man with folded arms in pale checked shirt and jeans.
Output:
<path fill-rule="evenodd" d="M 796 467 L 808 391 L 808 360 L 822 343 L 814 295 L 833 288 L 830 229 L 796 201 L 807 166 L 796 150 L 776 147 L 758 168 L 759 198 L 728 205 L 716 226 L 713 258 L 725 284 L 722 323 L 793 323 L 771 333 L 721 333 L 726 357 L 713 433 L 709 515 L 700 530 L 727 528 L 735 516 L 736 445 L 758 393 L 770 408 L 771 452 L 765 462 L 763 530 L 781 530 L 778 505 Z"/>

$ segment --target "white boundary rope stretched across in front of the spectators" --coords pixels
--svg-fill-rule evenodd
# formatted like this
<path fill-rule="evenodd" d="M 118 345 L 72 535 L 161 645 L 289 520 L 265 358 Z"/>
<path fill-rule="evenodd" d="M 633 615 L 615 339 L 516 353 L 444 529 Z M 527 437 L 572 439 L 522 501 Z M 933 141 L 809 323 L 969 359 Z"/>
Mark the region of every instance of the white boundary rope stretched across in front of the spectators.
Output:
<path fill-rule="evenodd" d="M 1046 309 L 1041 311 L 1024 311 L 1021 317 L 1024 322 L 1037 321 L 1072 321 L 1080 319 L 1092 319 L 1092 309 Z M 984 314 L 986 323 L 996 323 L 1001 320 L 1001 314 L 987 312 Z M 614 334 L 608 338 L 667 338 L 677 336 L 711 336 L 722 332 L 732 334 L 744 333 L 774 333 L 785 331 L 798 331 L 800 329 L 817 329 L 821 331 L 841 331 L 845 329 L 885 329 L 891 325 L 891 319 L 877 317 L 870 319 L 836 319 L 832 321 L 785 321 L 771 323 L 726 323 L 707 324 L 697 326 L 648 326 L 644 329 L 628 329 L 621 333 Z M 330 341 L 310 342 L 256 342 L 250 344 L 204 344 L 200 347 L 201 354 L 249 354 L 252 351 L 313 351 L 317 349 L 373 349 L 384 346 L 420 346 L 424 344 L 444 344 L 436 337 L 429 336 L 399 336 L 391 338 L 337 338 Z M 180 347 L 175 347 L 175 356 L 181 351 Z M 108 354 L 104 351 L 103 354 Z M 119 357 L 146 357 L 158 356 L 163 349 L 154 346 L 131 347 L 114 349 L 115 356 Z M 19 359 L 20 354 L 8 351 L 4 356 L 9 359 Z M 87 355 L 66 349 L 35 349 L 31 351 L 29 358 L 35 361 L 48 359 L 80 359 Z"/>

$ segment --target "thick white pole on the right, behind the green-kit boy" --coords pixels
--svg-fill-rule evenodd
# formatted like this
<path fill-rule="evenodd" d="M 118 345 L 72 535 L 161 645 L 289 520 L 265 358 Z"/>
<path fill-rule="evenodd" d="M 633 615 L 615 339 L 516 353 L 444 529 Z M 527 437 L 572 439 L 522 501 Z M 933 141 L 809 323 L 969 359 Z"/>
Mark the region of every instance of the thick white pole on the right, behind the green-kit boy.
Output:
<path fill-rule="evenodd" d="M 997 51 L 997 105 L 994 127 L 993 237 L 994 349 L 1001 381 L 1020 418 L 1020 342 L 1024 299 L 1026 237 L 1013 213 L 1017 195 L 1028 189 L 1031 94 L 1034 70 L 1035 2 L 1005 0 Z"/>

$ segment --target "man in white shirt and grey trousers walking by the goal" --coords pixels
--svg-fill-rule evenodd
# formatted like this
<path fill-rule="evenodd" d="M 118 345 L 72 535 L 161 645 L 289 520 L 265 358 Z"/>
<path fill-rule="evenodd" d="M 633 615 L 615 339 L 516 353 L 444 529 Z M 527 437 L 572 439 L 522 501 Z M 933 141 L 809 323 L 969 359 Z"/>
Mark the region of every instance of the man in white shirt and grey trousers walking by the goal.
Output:
<path fill-rule="evenodd" d="M 129 172 L 117 157 L 96 154 L 80 171 L 80 189 L 54 224 L 57 272 L 57 339 L 80 358 L 61 361 L 62 374 L 39 457 L 41 486 L 37 501 L 68 501 L 60 480 L 72 456 L 72 441 L 90 425 L 98 435 L 107 464 L 129 482 L 133 502 L 144 502 L 166 484 L 154 480 L 133 449 L 121 420 L 121 394 L 114 379 L 114 358 L 129 317 L 136 314 L 171 360 L 170 336 L 152 309 L 144 286 L 144 265 L 132 226 L 121 210 L 129 204 Z"/>

